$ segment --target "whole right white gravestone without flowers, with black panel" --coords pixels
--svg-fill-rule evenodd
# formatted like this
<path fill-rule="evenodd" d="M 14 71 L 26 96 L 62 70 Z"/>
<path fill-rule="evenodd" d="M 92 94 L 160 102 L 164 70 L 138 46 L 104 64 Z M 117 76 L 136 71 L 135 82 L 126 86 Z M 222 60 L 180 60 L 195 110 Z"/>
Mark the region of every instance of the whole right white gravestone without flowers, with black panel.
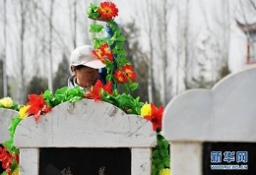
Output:
<path fill-rule="evenodd" d="M 255 175 L 255 122 L 256 67 L 176 96 L 162 126 L 172 175 Z"/>

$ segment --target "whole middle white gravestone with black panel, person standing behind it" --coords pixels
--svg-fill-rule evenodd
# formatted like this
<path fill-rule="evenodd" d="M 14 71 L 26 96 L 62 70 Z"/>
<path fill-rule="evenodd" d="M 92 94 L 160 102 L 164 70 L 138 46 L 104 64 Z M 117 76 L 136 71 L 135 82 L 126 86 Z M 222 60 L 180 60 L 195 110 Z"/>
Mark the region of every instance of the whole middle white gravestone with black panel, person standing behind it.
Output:
<path fill-rule="evenodd" d="M 156 144 L 151 122 L 92 99 L 21 121 L 14 138 L 21 175 L 149 175 Z"/>

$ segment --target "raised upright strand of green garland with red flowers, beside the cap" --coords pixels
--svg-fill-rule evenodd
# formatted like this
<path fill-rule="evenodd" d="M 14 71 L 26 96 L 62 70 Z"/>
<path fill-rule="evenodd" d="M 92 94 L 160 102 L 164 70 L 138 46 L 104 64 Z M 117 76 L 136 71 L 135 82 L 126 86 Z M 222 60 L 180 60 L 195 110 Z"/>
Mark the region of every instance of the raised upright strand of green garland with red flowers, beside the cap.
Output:
<path fill-rule="evenodd" d="M 107 28 L 112 31 L 111 37 L 100 37 L 101 29 L 104 29 L 104 27 L 96 23 L 90 26 L 90 31 L 98 35 L 98 37 L 93 38 L 94 48 L 96 49 L 98 59 L 106 65 L 106 81 L 112 81 L 115 85 L 118 84 L 122 87 L 125 92 L 130 93 L 130 91 L 138 87 L 138 83 L 135 82 L 136 74 L 132 64 L 127 60 L 127 51 L 124 48 L 126 38 L 114 22 L 114 17 L 118 16 L 118 9 L 111 2 L 102 2 L 99 6 L 91 4 L 87 14 L 90 19 L 106 22 Z M 114 56 L 113 60 L 109 60 L 107 56 L 103 56 L 105 60 L 102 60 L 102 55 L 97 54 L 98 52 L 102 53 L 102 49 L 100 49 L 102 45 L 108 45 L 111 48 L 112 55 Z"/>

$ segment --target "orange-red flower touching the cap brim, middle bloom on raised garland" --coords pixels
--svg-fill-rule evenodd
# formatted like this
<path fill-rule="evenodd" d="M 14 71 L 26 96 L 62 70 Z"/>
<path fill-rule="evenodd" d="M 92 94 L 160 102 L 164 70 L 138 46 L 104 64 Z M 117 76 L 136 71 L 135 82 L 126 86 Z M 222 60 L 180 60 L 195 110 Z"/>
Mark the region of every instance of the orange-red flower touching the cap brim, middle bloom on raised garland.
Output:
<path fill-rule="evenodd" d="M 101 44 L 93 53 L 102 63 L 105 63 L 105 60 L 113 61 L 112 51 L 107 43 Z"/>

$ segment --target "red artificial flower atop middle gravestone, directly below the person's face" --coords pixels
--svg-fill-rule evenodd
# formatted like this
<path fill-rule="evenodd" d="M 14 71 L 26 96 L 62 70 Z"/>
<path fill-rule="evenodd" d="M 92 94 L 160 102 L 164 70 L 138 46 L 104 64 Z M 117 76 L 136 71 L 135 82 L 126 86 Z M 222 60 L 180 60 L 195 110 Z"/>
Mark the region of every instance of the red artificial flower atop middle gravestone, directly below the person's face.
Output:
<path fill-rule="evenodd" d="M 86 97 L 96 100 L 101 100 L 100 91 L 103 89 L 108 94 L 112 94 L 112 82 L 107 82 L 106 85 L 103 85 L 101 81 L 97 80 L 96 85 L 94 87 L 91 87 L 89 91 L 86 93 Z"/>

